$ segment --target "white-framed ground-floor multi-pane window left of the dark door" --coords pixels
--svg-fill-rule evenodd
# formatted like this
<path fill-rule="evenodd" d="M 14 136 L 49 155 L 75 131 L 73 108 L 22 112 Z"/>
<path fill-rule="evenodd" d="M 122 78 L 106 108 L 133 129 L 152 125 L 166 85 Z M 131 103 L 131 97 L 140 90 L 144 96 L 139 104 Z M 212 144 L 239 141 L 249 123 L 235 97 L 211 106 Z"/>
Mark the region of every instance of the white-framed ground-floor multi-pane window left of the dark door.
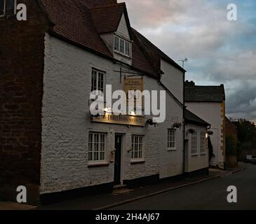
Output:
<path fill-rule="evenodd" d="M 92 137 L 90 137 L 92 136 Z M 95 141 L 95 136 L 97 136 L 97 141 Z M 104 141 L 102 142 L 102 136 Z M 97 144 L 97 151 L 95 151 L 95 144 Z M 103 144 L 103 151 L 101 146 Z M 107 133 L 104 132 L 89 132 L 88 134 L 88 165 L 99 165 L 107 164 Z M 91 156 L 90 156 L 91 153 Z M 103 154 L 102 154 L 103 153 Z M 95 156 L 97 155 L 97 156 Z M 103 158 L 102 158 L 103 155 Z M 95 160 L 95 157 L 98 158 Z"/>

